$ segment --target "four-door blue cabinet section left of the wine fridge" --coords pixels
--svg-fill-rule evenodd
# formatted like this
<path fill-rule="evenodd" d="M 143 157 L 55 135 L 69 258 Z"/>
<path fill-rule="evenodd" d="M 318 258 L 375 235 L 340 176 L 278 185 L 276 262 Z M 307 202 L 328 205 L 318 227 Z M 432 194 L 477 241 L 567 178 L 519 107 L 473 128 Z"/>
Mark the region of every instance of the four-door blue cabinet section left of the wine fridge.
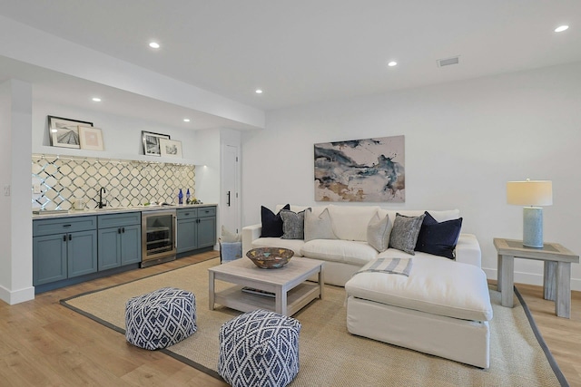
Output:
<path fill-rule="evenodd" d="M 34 293 L 133 270 L 141 212 L 33 219 Z"/>

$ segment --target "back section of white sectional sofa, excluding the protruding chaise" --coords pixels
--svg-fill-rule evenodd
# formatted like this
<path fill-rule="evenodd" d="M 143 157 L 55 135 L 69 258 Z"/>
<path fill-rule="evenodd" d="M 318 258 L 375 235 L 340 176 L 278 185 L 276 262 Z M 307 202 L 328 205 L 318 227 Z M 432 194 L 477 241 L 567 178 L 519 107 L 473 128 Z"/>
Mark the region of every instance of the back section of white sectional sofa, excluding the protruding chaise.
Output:
<path fill-rule="evenodd" d="M 282 205 L 273 211 L 278 213 Z M 291 205 L 291 211 L 299 212 L 306 207 Z M 251 248 L 256 247 L 286 247 L 294 251 L 294 256 L 325 261 L 325 282 L 330 285 L 344 286 L 361 266 L 379 257 L 411 256 L 395 248 L 379 253 L 367 242 L 369 220 L 378 214 L 379 218 L 389 215 L 393 222 L 396 213 L 409 217 L 422 215 L 425 210 L 392 210 L 378 206 L 317 206 L 310 207 L 312 215 L 320 214 L 328 209 L 332 231 L 337 239 L 282 239 L 281 237 L 261 237 L 261 224 L 242 228 L 242 256 Z M 447 211 L 428 210 L 429 214 L 439 222 L 459 218 L 459 210 Z M 415 257 L 429 256 L 435 259 L 448 260 L 442 256 L 432 256 L 416 252 Z M 478 240 L 471 234 L 460 234 L 456 247 L 456 261 L 480 267 L 480 246 Z"/>

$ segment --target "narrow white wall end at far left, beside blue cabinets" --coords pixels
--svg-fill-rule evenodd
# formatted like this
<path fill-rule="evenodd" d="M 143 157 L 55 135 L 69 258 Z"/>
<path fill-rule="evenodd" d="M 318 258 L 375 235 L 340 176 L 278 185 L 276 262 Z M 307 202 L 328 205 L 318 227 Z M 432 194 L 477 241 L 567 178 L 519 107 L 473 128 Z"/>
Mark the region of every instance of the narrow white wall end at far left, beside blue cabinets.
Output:
<path fill-rule="evenodd" d="M 30 192 L 32 85 L 4 82 L 0 99 L 0 299 L 13 305 L 34 298 L 30 197 L 22 194 Z"/>

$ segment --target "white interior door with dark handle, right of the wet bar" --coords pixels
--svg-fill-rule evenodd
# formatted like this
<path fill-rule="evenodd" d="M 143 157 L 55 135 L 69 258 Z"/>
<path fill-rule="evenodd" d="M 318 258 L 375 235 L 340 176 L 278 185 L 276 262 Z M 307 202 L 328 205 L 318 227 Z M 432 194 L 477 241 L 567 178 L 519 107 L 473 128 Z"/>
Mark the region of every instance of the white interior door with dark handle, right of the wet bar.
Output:
<path fill-rule="evenodd" d="M 222 174 L 222 225 L 231 232 L 240 233 L 239 148 L 224 145 Z"/>

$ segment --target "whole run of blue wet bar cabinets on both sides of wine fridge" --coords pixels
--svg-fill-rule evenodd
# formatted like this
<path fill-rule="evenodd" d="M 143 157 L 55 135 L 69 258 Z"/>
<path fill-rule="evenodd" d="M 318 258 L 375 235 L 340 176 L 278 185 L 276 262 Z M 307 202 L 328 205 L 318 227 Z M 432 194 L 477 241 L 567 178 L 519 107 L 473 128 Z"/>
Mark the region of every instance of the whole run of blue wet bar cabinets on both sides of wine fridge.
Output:
<path fill-rule="evenodd" d="M 173 208 L 177 257 L 212 250 L 216 244 L 216 206 Z M 108 208 L 103 212 L 90 210 L 86 215 L 35 216 L 34 293 L 139 268 L 145 212 L 150 211 Z"/>

